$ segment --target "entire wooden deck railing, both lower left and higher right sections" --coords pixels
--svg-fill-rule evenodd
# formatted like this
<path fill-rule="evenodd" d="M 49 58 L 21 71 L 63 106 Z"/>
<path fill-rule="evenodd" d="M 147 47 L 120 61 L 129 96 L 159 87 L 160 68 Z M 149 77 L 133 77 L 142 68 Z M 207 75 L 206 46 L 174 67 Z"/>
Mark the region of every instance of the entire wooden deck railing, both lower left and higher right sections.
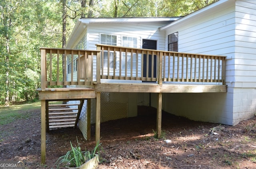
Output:
<path fill-rule="evenodd" d="M 97 50 L 40 48 L 41 88 L 100 79 L 225 85 L 226 57 L 97 45 Z M 63 64 L 62 64 L 63 63 Z M 62 66 L 64 65 L 64 66 Z"/>

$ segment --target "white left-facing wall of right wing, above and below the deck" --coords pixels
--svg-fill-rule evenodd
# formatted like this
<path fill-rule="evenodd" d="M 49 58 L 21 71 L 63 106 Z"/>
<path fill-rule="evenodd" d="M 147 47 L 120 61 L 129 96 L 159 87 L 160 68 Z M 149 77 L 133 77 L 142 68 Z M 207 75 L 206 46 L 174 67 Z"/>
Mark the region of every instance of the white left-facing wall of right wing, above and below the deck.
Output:
<path fill-rule="evenodd" d="M 178 31 L 179 52 L 234 57 L 235 4 L 231 1 L 226 3 L 226 5 L 217 6 L 204 14 L 167 28 L 166 50 L 168 49 L 168 35 Z M 234 64 L 232 62 L 230 59 L 226 62 L 228 70 L 226 79 L 233 78 Z M 192 120 L 232 125 L 232 95 L 229 88 L 227 93 L 165 94 L 164 100 L 173 101 L 164 101 L 164 110 Z M 188 106 L 184 106 L 184 103 Z"/>

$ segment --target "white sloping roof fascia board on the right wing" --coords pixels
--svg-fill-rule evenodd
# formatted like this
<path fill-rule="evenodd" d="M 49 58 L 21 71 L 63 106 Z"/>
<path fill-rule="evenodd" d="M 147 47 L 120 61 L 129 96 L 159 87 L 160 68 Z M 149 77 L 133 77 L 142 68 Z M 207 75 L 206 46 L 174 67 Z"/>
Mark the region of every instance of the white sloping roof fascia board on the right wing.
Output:
<path fill-rule="evenodd" d="M 184 16 L 184 17 L 182 17 L 182 18 L 180 18 L 180 19 L 178 19 L 178 20 L 176 20 L 176 21 L 166 25 L 166 26 L 161 27 L 160 30 L 167 29 L 167 28 L 169 28 L 171 26 L 174 26 L 176 24 L 182 23 L 182 22 L 184 22 L 186 20 L 189 20 L 191 18 L 194 18 L 196 16 L 200 16 L 201 14 L 203 14 L 204 12 L 206 12 L 206 11 L 208 11 L 210 9 L 215 8 L 217 6 L 221 6 L 224 3 L 230 2 L 230 1 L 235 1 L 235 0 L 218 0 L 218 1 L 212 3 L 212 4 L 208 5 L 208 6 L 205 6 L 204 8 L 196 10 L 195 12 L 192 12 L 192 13 L 190 13 L 190 14 L 188 14 L 188 15 L 186 15 L 186 16 Z"/>

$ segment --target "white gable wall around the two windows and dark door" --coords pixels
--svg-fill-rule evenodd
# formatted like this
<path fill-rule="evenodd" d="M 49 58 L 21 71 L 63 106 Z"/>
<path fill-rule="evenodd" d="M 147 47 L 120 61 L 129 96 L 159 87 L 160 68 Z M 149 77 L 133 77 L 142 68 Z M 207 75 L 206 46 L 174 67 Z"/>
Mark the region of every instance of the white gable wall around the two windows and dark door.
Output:
<path fill-rule="evenodd" d="M 117 46 L 122 45 L 122 37 L 137 37 L 137 48 L 142 48 L 142 39 L 151 39 L 157 41 L 157 49 L 164 50 L 165 37 L 164 33 L 159 31 L 159 27 L 166 23 L 152 24 L 152 23 L 116 23 L 116 24 L 90 24 L 88 26 L 88 48 L 96 49 L 96 44 L 100 44 L 100 35 L 109 34 L 117 36 Z M 117 60 L 119 60 L 117 55 Z M 93 75 L 96 80 L 96 56 L 93 59 Z M 139 63 L 140 67 L 141 63 Z M 120 67 L 117 62 L 117 67 Z"/>

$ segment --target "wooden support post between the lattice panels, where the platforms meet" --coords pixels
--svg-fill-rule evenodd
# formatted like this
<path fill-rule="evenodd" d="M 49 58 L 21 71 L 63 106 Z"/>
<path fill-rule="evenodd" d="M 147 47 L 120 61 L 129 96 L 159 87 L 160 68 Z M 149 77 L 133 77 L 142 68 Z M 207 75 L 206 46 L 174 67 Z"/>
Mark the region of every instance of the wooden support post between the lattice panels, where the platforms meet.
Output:
<path fill-rule="evenodd" d="M 96 94 L 95 141 L 96 144 L 100 142 L 100 92 Z"/>

